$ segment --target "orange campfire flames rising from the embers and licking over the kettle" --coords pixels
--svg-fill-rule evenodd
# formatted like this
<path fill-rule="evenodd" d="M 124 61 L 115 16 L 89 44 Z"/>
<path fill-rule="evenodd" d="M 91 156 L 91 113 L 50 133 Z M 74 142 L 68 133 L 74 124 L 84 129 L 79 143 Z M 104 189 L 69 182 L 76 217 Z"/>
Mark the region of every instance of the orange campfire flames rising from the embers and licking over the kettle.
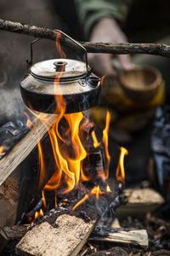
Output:
<path fill-rule="evenodd" d="M 97 138 L 95 133 L 96 128 L 94 122 L 83 112 L 67 113 L 67 102 L 65 101 L 65 96 L 63 96 L 63 88 L 62 84 L 60 84 L 60 79 L 62 79 L 63 73 L 66 72 L 65 67 L 66 65 L 69 65 L 69 60 L 65 59 L 65 53 L 59 44 L 59 37 L 57 37 L 56 40 L 56 47 L 61 57 L 61 61 L 54 61 L 55 69 L 57 71 L 53 85 L 56 106 L 54 113 L 57 113 L 54 124 L 49 128 L 48 114 L 38 114 L 37 112 L 35 113 L 34 110 L 30 110 L 31 114 L 36 116 L 37 119 L 40 119 L 48 131 L 50 148 L 53 152 L 52 158 L 54 161 L 54 173 L 47 181 L 48 162 L 44 160 L 44 154 L 46 154 L 48 148 L 45 148 L 44 150 L 38 139 L 39 175 L 37 190 L 42 191 L 42 205 L 40 204 L 38 207 L 35 207 L 36 212 L 34 216 L 32 216 L 32 211 L 31 213 L 27 212 L 25 214 L 24 217 L 31 222 L 31 225 L 35 224 L 37 219 L 42 218 L 44 213 L 50 210 L 48 209 L 46 199 L 48 192 L 50 192 L 50 198 L 53 197 L 52 193 L 54 193 L 54 207 L 58 209 L 60 204 L 59 197 L 64 197 L 62 199 L 62 205 L 68 206 L 71 204 L 69 200 L 71 192 L 75 193 L 77 190 L 78 195 L 80 196 L 78 196 L 77 200 L 70 206 L 71 212 L 74 212 L 76 209 L 79 209 L 81 204 L 85 201 L 99 201 L 101 195 L 109 195 L 116 191 L 113 185 L 113 189 L 111 189 L 107 182 L 111 160 L 111 155 L 108 151 L 108 132 L 111 113 L 106 113 L 105 129 L 103 130 L 102 136 L 99 138 Z M 77 61 L 77 63 L 79 64 L 80 62 Z M 86 67 L 87 66 L 88 65 L 86 65 Z M 97 80 L 98 86 L 99 78 L 93 76 L 89 79 L 90 81 L 92 81 L 92 79 L 94 79 L 94 81 Z M 22 84 L 24 84 L 24 81 Z M 24 87 L 22 84 L 21 87 Z M 63 86 L 66 85 L 64 84 Z M 85 86 L 85 84 L 83 84 L 83 86 Z M 31 102 L 28 102 L 27 104 L 32 108 Z M 73 109 L 73 111 L 75 112 L 75 109 Z M 27 113 L 25 114 L 27 117 L 27 125 L 31 129 L 35 125 L 31 122 L 29 115 Z M 116 179 L 120 183 L 125 182 L 123 161 L 126 154 L 127 150 L 125 148 L 120 148 L 120 160 L 116 169 Z M 92 162 L 92 160 L 94 160 L 94 162 Z M 99 212 L 101 212 L 100 209 Z M 31 225 L 28 226 L 28 229 L 31 228 Z"/>

